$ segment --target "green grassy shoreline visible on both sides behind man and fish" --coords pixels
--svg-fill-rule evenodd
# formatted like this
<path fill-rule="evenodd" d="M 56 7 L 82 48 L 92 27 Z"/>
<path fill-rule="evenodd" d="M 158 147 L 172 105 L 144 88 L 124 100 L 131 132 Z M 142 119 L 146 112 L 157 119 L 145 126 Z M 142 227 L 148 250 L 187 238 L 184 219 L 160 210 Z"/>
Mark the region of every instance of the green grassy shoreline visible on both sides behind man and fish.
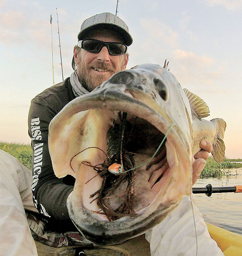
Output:
<path fill-rule="evenodd" d="M 32 148 L 30 145 L 0 141 L 0 149 L 17 158 L 30 170 L 32 169 Z M 234 161 L 242 161 L 242 159 L 225 158 L 223 163 L 218 164 L 216 161 L 214 161 L 213 157 L 209 157 L 200 178 L 221 179 L 223 176 L 227 175 L 227 173 L 224 171 L 225 169 L 242 168 L 242 163 L 234 163 Z"/>

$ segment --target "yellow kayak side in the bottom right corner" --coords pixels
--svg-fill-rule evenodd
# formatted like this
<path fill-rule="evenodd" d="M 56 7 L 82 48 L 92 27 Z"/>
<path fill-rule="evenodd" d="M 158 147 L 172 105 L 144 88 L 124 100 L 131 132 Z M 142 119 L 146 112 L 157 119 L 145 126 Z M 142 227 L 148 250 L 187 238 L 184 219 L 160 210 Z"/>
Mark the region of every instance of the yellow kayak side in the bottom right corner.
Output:
<path fill-rule="evenodd" d="M 209 234 L 214 239 L 218 247 L 225 256 L 241 256 L 242 255 L 242 236 L 233 232 L 219 228 L 212 224 L 206 223 Z"/>

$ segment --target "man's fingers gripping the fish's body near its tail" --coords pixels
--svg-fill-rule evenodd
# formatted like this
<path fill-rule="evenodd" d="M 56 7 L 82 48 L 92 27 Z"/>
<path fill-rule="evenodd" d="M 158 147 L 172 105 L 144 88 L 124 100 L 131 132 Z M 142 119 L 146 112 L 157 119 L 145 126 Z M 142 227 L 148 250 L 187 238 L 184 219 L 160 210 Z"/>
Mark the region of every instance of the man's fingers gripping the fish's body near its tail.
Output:
<path fill-rule="evenodd" d="M 199 178 L 201 171 L 204 169 L 206 165 L 206 161 L 204 159 L 208 158 L 208 155 L 213 150 L 213 146 L 209 141 L 202 140 L 200 142 L 201 150 L 194 156 L 194 162 L 192 164 L 193 173 L 192 173 L 192 185 Z"/>

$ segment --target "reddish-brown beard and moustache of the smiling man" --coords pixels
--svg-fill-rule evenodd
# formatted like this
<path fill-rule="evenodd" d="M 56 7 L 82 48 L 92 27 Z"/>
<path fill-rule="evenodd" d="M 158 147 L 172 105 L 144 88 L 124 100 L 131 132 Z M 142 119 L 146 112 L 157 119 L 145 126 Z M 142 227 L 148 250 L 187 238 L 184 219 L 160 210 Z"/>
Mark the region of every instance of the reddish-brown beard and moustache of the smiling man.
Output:
<path fill-rule="evenodd" d="M 83 62 L 77 66 L 77 75 L 82 84 L 82 86 L 87 89 L 87 91 L 92 91 L 99 85 L 101 85 L 104 81 L 110 78 L 111 75 L 91 75 L 90 70 L 92 68 L 100 68 L 106 71 L 110 71 L 111 75 L 116 73 L 116 69 L 112 64 L 106 64 L 104 62 L 96 62 L 93 64 L 85 65 Z"/>

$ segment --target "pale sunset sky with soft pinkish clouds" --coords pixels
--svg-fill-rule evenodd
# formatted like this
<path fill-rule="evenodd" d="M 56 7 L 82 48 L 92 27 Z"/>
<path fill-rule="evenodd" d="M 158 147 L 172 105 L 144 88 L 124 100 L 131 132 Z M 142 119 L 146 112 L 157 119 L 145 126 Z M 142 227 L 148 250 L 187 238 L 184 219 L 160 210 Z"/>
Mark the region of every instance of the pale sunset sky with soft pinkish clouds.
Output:
<path fill-rule="evenodd" d="M 29 144 L 31 99 L 73 72 L 71 60 L 84 19 L 116 12 L 116 0 L 0 0 L 0 141 Z M 57 13 L 60 29 L 58 38 Z M 164 64 L 182 88 L 201 97 L 206 118 L 223 118 L 225 155 L 242 158 L 242 0 L 119 0 L 133 38 L 127 68 Z"/>

